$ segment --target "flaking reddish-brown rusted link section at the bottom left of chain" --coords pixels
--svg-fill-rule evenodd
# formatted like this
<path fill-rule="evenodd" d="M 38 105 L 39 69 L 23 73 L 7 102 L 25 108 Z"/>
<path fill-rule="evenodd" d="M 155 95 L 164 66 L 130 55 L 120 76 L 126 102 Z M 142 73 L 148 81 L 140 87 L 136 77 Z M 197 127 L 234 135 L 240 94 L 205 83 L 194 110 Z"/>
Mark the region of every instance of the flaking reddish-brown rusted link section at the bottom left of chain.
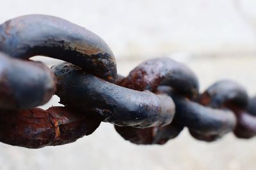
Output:
<path fill-rule="evenodd" d="M 101 119 L 74 109 L 51 107 L 0 111 L 0 140 L 26 148 L 72 143 L 99 127 Z"/>

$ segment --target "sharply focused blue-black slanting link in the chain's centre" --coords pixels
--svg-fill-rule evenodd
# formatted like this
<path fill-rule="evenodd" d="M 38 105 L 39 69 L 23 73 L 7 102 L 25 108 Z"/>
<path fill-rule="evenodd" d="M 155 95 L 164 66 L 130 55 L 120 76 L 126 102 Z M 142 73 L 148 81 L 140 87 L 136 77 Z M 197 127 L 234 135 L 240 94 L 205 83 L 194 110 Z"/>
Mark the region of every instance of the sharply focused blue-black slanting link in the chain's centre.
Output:
<path fill-rule="evenodd" d="M 174 104 L 170 97 L 139 92 L 104 81 L 79 67 L 62 63 L 52 67 L 61 104 L 89 110 L 104 122 L 121 126 L 151 127 L 170 124 Z"/>

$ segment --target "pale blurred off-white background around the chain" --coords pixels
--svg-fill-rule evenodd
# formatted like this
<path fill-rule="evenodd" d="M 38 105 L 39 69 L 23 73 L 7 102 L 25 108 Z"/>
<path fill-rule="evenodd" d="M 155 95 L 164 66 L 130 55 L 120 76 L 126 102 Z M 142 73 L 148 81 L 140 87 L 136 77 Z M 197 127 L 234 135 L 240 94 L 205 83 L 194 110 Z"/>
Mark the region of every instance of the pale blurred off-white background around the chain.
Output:
<path fill-rule="evenodd" d="M 214 81 L 236 80 L 256 94 L 255 0 L 0 0 L 0 22 L 32 13 L 54 15 L 86 27 L 115 53 L 118 73 L 145 59 L 171 57 L 191 67 L 200 90 Z M 35 57 L 51 66 L 59 60 Z M 42 108 L 58 105 L 58 97 Z M 187 129 L 163 146 L 124 141 L 102 123 L 76 143 L 29 150 L 0 143 L 0 169 L 256 169 L 256 138 L 232 133 L 213 143 Z"/>

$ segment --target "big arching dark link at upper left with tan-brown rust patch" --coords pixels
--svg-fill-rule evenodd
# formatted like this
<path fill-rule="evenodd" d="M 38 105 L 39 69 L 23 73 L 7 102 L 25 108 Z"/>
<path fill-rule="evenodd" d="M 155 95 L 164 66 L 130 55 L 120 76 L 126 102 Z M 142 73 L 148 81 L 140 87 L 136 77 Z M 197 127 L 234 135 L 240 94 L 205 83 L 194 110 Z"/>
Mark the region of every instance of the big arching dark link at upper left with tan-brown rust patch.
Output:
<path fill-rule="evenodd" d="M 107 81 L 116 80 L 116 62 L 96 34 L 49 15 L 26 15 L 0 25 L 0 51 L 28 59 L 44 55 L 65 60 Z"/>

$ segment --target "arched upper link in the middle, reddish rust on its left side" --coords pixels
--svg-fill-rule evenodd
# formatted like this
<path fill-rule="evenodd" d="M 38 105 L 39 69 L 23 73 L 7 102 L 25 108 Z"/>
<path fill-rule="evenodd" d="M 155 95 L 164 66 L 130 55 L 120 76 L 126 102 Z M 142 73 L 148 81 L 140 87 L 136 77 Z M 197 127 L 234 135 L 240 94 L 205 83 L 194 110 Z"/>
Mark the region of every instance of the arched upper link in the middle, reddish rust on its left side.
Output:
<path fill-rule="evenodd" d="M 189 98 L 198 94 L 198 80 L 188 67 L 168 58 L 151 59 L 134 68 L 119 83 L 135 90 L 156 92 L 159 85 L 170 86 Z"/>

